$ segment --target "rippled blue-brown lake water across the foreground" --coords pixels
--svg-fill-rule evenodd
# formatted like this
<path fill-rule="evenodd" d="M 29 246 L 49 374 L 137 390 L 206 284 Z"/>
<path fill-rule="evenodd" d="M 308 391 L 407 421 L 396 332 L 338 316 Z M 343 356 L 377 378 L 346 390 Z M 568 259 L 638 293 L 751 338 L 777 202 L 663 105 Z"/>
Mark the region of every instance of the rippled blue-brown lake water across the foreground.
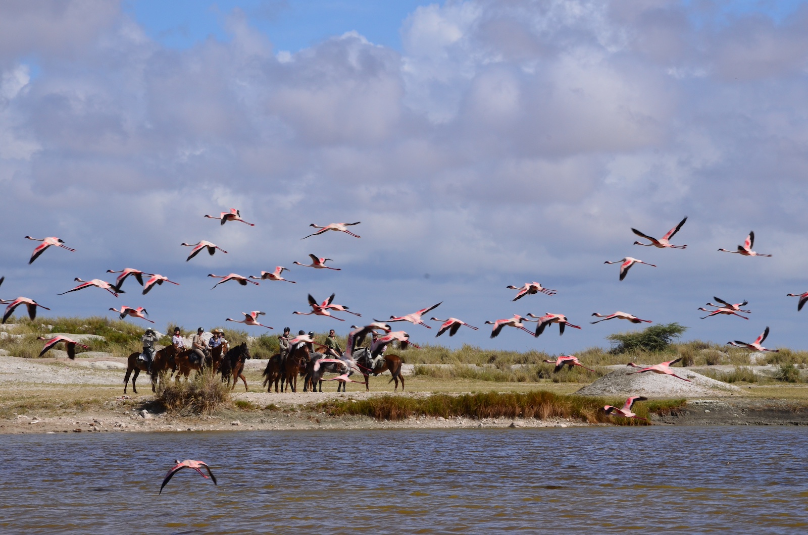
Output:
<path fill-rule="evenodd" d="M 806 533 L 804 428 L 0 436 L 0 533 Z M 219 485 L 181 470 L 207 461 Z"/>

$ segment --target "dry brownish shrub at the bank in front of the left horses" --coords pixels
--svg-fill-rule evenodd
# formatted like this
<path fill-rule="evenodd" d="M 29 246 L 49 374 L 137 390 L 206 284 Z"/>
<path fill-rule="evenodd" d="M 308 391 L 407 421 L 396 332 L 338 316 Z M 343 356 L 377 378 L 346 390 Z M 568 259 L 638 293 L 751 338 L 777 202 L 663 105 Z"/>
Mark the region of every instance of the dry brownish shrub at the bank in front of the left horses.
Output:
<path fill-rule="evenodd" d="M 189 381 L 160 381 L 157 391 L 166 411 L 180 414 L 209 414 L 229 397 L 228 386 L 208 373 L 197 373 Z"/>

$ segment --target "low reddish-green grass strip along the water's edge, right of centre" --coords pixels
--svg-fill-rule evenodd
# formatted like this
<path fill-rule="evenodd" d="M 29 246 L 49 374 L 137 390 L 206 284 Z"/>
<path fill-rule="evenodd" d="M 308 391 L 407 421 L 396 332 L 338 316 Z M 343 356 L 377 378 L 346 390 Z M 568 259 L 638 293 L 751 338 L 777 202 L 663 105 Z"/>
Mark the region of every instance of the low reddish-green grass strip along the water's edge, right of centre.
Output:
<path fill-rule="evenodd" d="M 625 400 L 611 400 L 617 405 Z M 685 400 L 651 402 L 648 406 L 638 404 L 637 414 L 647 416 L 649 406 L 654 411 L 671 411 L 684 405 Z M 375 419 L 402 420 L 412 416 L 454 418 L 568 418 L 587 423 L 618 423 L 636 425 L 643 420 L 612 418 L 603 410 L 607 401 L 584 396 L 558 395 L 545 390 L 524 394 L 477 393 L 477 394 L 431 394 L 427 398 L 384 395 L 360 401 L 330 401 L 318 404 L 319 411 L 332 416 L 364 415 Z"/>

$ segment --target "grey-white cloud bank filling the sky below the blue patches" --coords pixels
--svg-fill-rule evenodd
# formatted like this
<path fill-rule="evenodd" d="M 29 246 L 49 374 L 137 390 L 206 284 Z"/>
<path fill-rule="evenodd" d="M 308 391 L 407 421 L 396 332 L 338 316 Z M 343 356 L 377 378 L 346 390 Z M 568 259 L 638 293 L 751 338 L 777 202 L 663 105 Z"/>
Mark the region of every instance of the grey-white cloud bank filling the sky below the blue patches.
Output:
<path fill-rule="evenodd" d="M 52 297 L 74 276 L 132 264 L 182 279 L 142 302 L 126 294 L 158 321 L 267 308 L 286 323 L 309 291 L 336 291 L 376 317 L 445 298 L 475 325 L 523 306 L 584 322 L 613 304 L 718 341 L 747 326 L 708 325 L 695 309 L 739 294 L 798 344 L 793 303 L 772 296 L 797 291 L 805 265 L 808 11 L 776 21 L 710 2 L 445 2 L 402 21 L 401 53 L 351 31 L 278 53 L 251 16 L 225 18 L 227 41 L 175 50 L 112 2 L 3 3 L 4 291 Z M 230 207 L 257 226 L 202 217 Z M 687 251 L 631 245 L 630 227 L 658 236 L 684 215 Z M 332 221 L 362 221 L 363 238 L 300 240 Z M 750 228 L 775 257 L 715 251 Z M 25 234 L 78 251 L 27 268 Z M 185 263 L 179 243 L 199 239 L 229 254 Z M 343 271 L 297 268 L 300 284 L 257 291 L 211 292 L 205 279 L 309 253 Z M 603 261 L 625 255 L 659 268 L 619 283 Z M 515 306 L 504 286 L 525 280 L 559 294 Z M 57 313 L 100 314 L 102 301 Z M 318 320 L 300 321 L 329 326 Z M 574 351 L 604 334 L 508 333 L 497 345 Z"/>

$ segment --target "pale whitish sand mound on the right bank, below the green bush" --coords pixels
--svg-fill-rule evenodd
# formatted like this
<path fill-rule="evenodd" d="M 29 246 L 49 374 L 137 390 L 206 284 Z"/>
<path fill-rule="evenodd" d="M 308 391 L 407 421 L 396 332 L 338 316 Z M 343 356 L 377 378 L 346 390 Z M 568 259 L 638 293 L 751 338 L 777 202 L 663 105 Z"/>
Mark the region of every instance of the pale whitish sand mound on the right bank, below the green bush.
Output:
<path fill-rule="evenodd" d="M 692 382 L 682 381 L 660 373 L 631 373 L 631 369 L 616 369 L 600 377 L 591 385 L 584 386 L 575 394 L 585 396 L 633 396 L 645 395 L 654 398 L 689 398 L 692 396 L 731 395 L 740 389 L 722 381 L 716 381 L 689 369 L 676 368 L 676 375 Z"/>

